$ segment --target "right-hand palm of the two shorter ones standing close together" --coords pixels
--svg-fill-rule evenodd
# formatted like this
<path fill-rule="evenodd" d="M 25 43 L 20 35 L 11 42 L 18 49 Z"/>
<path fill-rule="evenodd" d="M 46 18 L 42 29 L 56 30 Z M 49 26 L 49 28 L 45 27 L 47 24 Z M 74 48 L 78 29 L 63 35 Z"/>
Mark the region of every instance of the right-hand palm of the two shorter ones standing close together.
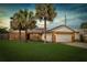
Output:
<path fill-rule="evenodd" d="M 24 10 L 23 11 L 23 19 L 24 19 L 24 30 L 25 30 L 25 42 L 28 41 L 28 29 L 32 30 L 34 29 L 36 25 L 36 21 L 34 20 L 34 14 L 32 11 L 28 11 L 28 10 Z"/>

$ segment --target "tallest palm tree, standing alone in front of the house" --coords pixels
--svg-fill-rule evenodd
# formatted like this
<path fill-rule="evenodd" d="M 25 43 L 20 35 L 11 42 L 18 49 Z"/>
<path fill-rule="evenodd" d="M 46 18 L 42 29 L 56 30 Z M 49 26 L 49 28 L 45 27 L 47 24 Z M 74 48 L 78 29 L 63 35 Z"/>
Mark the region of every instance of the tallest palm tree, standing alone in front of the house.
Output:
<path fill-rule="evenodd" d="M 44 43 L 46 42 L 46 21 L 53 21 L 56 17 L 55 8 L 53 4 L 44 3 L 44 4 L 36 4 L 36 18 L 41 21 L 44 20 Z"/>

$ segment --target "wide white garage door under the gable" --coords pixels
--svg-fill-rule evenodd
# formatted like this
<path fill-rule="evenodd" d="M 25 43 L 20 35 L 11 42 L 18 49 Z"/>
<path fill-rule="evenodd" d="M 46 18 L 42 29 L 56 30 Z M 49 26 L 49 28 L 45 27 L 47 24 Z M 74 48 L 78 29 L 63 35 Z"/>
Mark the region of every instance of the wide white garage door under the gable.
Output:
<path fill-rule="evenodd" d="M 72 42 L 72 34 L 56 34 L 56 42 Z"/>

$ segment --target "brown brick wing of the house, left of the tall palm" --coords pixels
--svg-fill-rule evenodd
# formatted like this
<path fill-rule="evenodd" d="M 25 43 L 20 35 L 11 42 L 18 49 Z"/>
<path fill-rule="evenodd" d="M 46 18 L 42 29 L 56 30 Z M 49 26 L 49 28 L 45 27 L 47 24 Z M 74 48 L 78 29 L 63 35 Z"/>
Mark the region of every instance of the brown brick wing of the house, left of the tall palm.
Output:
<path fill-rule="evenodd" d="M 28 30 L 28 40 L 34 40 L 34 41 L 41 41 L 41 36 L 44 32 L 44 29 L 33 29 Z M 9 40 L 20 40 L 19 36 L 19 30 L 11 30 L 9 33 Z M 25 31 L 21 31 L 21 40 L 25 40 Z"/>

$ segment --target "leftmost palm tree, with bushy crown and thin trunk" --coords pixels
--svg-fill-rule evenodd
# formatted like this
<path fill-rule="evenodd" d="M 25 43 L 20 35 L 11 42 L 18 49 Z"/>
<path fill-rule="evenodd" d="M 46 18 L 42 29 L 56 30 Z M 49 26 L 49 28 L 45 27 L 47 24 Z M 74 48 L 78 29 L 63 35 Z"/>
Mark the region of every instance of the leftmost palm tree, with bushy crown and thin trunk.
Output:
<path fill-rule="evenodd" d="M 21 10 L 20 10 L 21 11 Z M 19 30 L 19 40 L 21 41 L 22 18 L 21 13 L 14 13 L 11 18 L 11 29 Z"/>

